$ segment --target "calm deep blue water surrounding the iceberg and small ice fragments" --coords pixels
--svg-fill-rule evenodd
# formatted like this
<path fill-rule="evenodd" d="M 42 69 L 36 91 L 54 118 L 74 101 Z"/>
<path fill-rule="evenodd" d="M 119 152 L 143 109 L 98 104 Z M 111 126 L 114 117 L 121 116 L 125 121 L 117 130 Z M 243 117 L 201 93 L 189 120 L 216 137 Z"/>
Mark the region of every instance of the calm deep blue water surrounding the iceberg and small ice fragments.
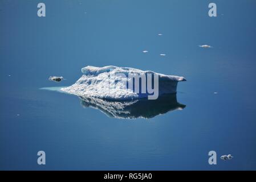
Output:
<path fill-rule="evenodd" d="M 0 1 L 0 169 L 256 169 L 255 1 L 214 1 L 213 18 L 210 1 L 43 2 L 39 18 L 39 1 Z M 73 84 L 86 65 L 184 76 L 186 107 L 116 119 L 40 89 Z"/>

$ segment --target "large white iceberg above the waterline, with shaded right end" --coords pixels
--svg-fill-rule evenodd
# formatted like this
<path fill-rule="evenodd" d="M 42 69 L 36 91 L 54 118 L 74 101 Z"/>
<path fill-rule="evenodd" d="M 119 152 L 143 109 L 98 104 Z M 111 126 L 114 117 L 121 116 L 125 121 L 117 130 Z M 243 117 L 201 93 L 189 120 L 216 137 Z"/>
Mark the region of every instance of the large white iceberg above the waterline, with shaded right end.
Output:
<path fill-rule="evenodd" d="M 87 66 L 82 68 L 82 73 L 84 75 L 74 85 L 62 88 L 62 91 L 81 97 L 108 100 L 132 100 L 144 97 L 154 100 L 162 94 L 176 93 L 177 82 L 186 81 L 180 76 L 115 66 Z"/>

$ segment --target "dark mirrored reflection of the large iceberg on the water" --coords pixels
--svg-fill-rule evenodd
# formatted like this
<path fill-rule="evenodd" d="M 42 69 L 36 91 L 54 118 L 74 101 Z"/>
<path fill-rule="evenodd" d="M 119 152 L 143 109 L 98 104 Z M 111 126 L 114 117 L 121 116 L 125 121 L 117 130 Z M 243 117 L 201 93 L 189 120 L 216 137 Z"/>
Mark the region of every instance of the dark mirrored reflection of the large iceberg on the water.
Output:
<path fill-rule="evenodd" d="M 84 107 L 99 109 L 108 117 L 135 119 L 153 118 L 173 110 L 182 110 L 185 105 L 177 102 L 176 94 L 164 94 L 157 100 L 141 98 L 132 101 L 109 101 L 95 97 L 79 97 Z"/>

